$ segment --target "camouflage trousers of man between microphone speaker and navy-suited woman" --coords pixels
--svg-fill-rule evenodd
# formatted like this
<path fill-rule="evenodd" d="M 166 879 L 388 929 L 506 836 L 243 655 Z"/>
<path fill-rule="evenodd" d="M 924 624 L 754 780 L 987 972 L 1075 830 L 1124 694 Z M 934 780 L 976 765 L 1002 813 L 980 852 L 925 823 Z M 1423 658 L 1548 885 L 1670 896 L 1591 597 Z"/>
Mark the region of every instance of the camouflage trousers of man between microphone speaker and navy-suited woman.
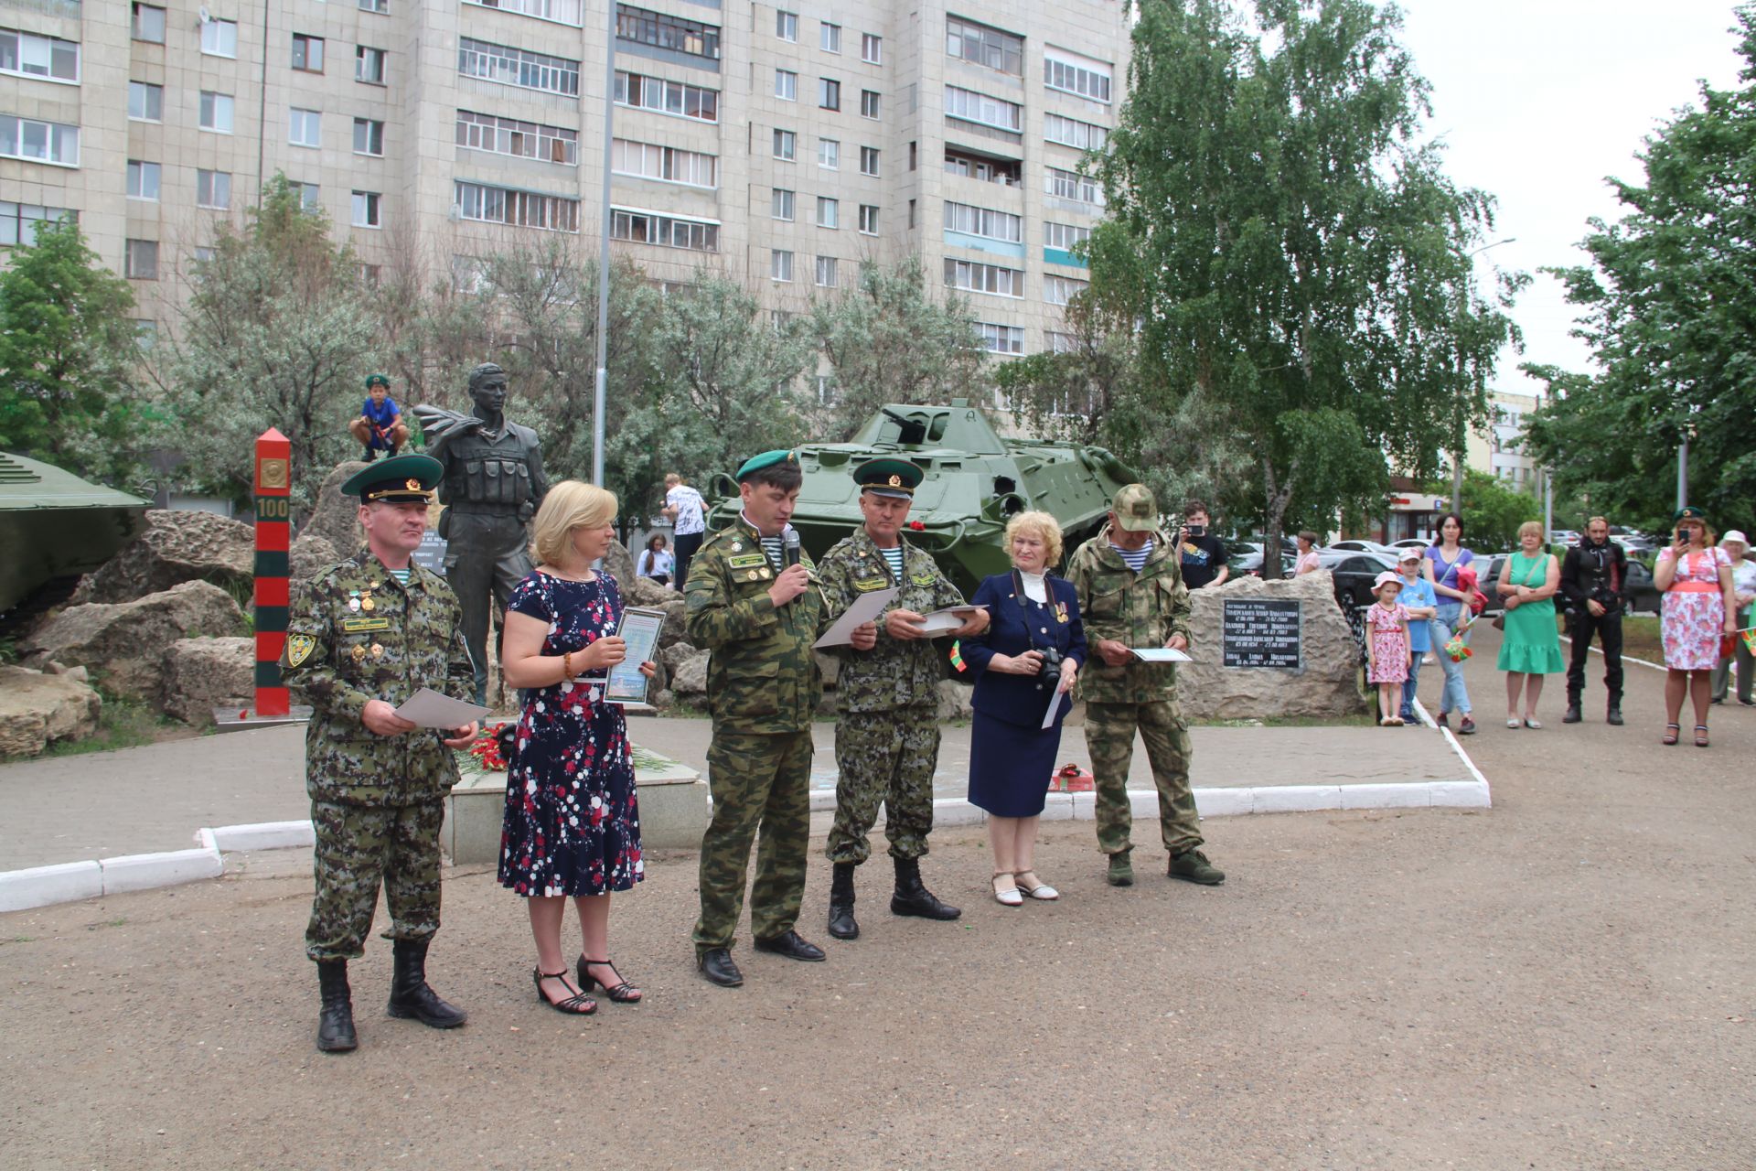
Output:
<path fill-rule="evenodd" d="M 836 823 L 829 860 L 860 864 L 883 802 L 883 836 L 892 858 L 927 853 L 932 832 L 932 771 L 939 762 L 939 713 L 934 708 L 850 711 L 836 722 Z"/>

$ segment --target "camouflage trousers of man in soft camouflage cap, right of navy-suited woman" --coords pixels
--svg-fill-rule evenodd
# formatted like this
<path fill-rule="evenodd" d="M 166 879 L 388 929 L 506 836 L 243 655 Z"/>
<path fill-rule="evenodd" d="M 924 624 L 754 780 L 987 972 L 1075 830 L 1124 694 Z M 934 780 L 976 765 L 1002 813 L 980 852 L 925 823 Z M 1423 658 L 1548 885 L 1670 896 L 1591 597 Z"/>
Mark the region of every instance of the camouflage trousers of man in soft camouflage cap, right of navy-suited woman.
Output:
<path fill-rule="evenodd" d="M 1134 730 L 1147 743 L 1152 783 L 1159 790 L 1159 834 L 1168 851 L 1201 844 L 1196 799 L 1189 792 L 1189 729 L 1175 699 L 1150 704 L 1085 704 L 1085 748 L 1092 758 L 1098 811 L 1098 848 L 1129 850 L 1133 815 L 1127 808 L 1127 765 L 1134 758 Z"/>

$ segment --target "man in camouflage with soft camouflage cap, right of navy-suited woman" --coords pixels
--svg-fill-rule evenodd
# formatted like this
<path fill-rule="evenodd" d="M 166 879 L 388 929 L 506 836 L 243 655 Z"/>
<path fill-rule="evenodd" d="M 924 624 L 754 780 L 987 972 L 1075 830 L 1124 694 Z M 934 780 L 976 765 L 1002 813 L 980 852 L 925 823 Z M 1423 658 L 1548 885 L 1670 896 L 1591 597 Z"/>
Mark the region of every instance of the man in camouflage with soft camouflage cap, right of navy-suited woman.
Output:
<path fill-rule="evenodd" d="M 1129 562 L 1138 562 L 1138 569 Z M 1134 658 L 1131 648 L 1189 648 L 1189 590 L 1178 550 L 1159 528 L 1159 507 L 1145 485 L 1115 493 L 1105 528 L 1068 564 L 1080 595 L 1080 618 L 1092 657 L 1080 672 L 1085 746 L 1092 758 L 1098 848 L 1110 855 L 1112 887 L 1129 887 L 1127 765 L 1134 730 L 1147 743 L 1159 790 L 1159 832 L 1171 855 L 1169 876 L 1206 887 L 1226 881 L 1201 853 L 1201 822 L 1189 792 L 1189 729 L 1177 706 L 1177 665 Z"/>

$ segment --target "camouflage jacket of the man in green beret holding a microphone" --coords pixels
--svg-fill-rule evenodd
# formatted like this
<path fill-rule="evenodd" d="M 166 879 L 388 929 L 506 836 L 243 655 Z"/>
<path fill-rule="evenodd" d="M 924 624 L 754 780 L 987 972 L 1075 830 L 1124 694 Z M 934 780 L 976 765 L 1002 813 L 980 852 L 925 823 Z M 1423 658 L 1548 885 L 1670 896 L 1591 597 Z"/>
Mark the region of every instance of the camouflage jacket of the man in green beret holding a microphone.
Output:
<path fill-rule="evenodd" d="M 811 643 L 827 625 L 817 567 L 811 588 L 776 607 L 774 567 L 743 516 L 702 541 L 688 564 L 683 629 L 708 660 L 708 709 L 729 732 L 802 732 L 811 727 L 824 681 Z"/>

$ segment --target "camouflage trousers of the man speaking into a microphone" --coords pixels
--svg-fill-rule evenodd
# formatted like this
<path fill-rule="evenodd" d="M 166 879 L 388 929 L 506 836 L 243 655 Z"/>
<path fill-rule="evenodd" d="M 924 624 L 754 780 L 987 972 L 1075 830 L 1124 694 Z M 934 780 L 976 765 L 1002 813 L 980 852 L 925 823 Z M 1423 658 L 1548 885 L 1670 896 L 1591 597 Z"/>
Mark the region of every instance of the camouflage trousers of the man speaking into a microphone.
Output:
<path fill-rule="evenodd" d="M 760 736 L 715 729 L 708 788 L 713 822 L 701 837 L 695 952 L 732 946 L 759 827 L 750 930 L 757 939 L 785 936 L 799 918 L 811 848 L 811 732 Z"/>

